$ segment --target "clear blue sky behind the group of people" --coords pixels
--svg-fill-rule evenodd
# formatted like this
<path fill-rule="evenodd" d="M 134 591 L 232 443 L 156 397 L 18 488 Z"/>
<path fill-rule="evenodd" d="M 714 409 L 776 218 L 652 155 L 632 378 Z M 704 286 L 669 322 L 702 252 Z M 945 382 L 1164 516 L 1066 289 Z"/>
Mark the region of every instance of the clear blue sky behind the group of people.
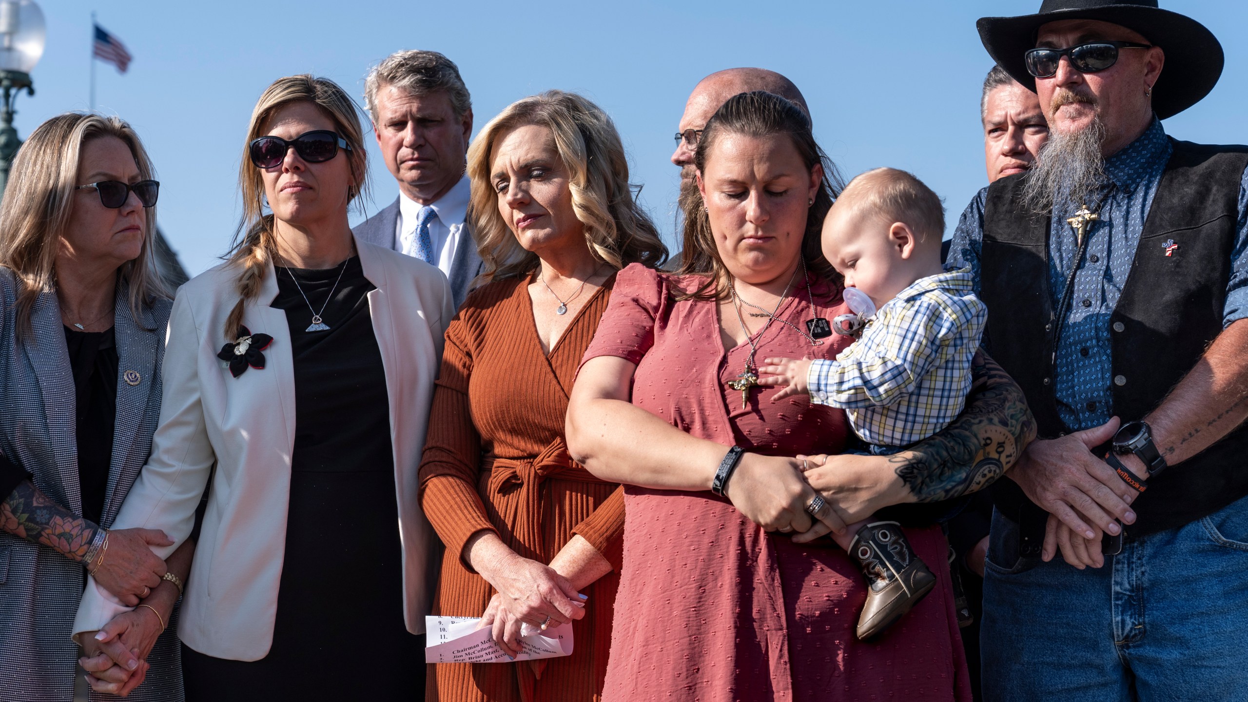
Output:
<path fill-rule="evenodd" d="M 32 72 L 35 96 L 17 100 L 19 134 L 87 107 L 96 10 L 134 55 L 125 75 L 96 66 L 96 109 L 129 120 L 146 142 L 162 184 L 161 227 L 195 275 L 218 262 L 235 231 L 238 159 L 265 86 L 311 71 L 358 97 L 367 69 L 399 49 L 442 51 L 459 65 L 478 129 L 509 102 L 552 87 L 597 101 L 615 119 L 633 181 L 644 184 L 641 200 L 669 246 L 679 181 L 668 161 L 671 135 L 694 84 L 731 66 L 792 79 L 820 144 L 846 176 L 875 166 L 910 170 L 945 199 L 952 227 L 985 184 L 978 94 L 991 62 L 975 20 L 1033 12 L 1040 0 L 40 5 L 47 49 Z M 1167 120 L 1167 131 L 1193 141 L 1248 141 L 1248 2 L 1162 6 L 1204 22 L 1227 52 L 1217 89 Z M 398 191 L 374 144 L 369 161 L 372 214 Z"/>

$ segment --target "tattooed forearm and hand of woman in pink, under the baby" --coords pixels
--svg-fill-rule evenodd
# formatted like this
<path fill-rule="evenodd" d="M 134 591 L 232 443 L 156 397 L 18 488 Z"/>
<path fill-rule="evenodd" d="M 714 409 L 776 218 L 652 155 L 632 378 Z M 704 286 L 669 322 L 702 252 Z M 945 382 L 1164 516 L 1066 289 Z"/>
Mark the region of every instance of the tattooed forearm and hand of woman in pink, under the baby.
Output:
<path fill-rule="evenodd" d="M 811 457 L 806 480 L 845 523 L 891 505 L 936 502 L 982 490 L 1015 465 L 1036 437 L 1022 388 L 982 351 L 971 370 L 966 410 L 909 451 Z M 819 530 L 815 525 L 802 541 L 817 537 Z"/>

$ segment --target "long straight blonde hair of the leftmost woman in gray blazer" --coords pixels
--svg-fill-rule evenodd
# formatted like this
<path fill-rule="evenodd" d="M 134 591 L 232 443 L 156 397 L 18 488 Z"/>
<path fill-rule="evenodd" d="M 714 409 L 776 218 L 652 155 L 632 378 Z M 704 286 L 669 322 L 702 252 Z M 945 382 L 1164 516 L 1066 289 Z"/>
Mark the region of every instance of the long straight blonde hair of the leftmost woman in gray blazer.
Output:
<path fill-rule="evenodd" d="M 155 176 L 139 135 L 119 117 L 65 112 L 39 125 L 17 151 L 0 202 L 0 265 L 17 280 L 17 334 L 30 334 L 30 311 L 44 292 L 56 289 L 56 252 L 74 207 L 82 146 L 115 136 L 130 147 L 140 180 Z M 144 210 L 144 244 L 139 257 L 117 269 L 130 289 L 130 314 L 142 324 L 142 307 L 168 297 L 156 270 L 156 207 Z"/>

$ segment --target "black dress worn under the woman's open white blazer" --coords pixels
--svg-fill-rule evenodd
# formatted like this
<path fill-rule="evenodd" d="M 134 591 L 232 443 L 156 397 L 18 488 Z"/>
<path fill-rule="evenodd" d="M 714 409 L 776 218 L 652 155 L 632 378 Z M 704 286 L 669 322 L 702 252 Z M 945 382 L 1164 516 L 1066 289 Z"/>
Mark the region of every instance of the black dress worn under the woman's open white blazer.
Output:
<path fill-rule="evenodd" d="M 424 637 L 403 622 L 388 393 L 367 297 L 374 286 L 358 257 L 275 270 L 272 306 L 286 310 L 291 330 L 296 433 L 273 646 L 255 662 L 183 646 L 186 697 L 416 700 Z M 321 314 L 329 329 L 306 331 L 310 304 L 319 310 L 331 290 Z"/>

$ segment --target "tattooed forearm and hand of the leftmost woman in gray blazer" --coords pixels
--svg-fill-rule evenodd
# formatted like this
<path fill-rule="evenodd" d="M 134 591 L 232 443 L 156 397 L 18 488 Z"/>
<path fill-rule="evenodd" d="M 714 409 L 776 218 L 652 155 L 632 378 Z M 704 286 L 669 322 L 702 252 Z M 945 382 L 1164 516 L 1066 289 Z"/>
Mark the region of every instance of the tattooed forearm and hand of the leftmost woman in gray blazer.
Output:
<path fill-rule="evenodd" d="M 99 525 L 61 507 L 29 480 L 20 482 L 0 502 L 0 528 L 79 563 L 100 531 Z M 91 563 L 82 565 L 94 571 L 101 587 L 132 607 L 145 592 L 155 590 L 165 575 L 165 561 L 156 557 L 149 545 L 171 543 L 161 531 L 114 530 L 109 532 L 107 548 L 101 548 Z"/>

